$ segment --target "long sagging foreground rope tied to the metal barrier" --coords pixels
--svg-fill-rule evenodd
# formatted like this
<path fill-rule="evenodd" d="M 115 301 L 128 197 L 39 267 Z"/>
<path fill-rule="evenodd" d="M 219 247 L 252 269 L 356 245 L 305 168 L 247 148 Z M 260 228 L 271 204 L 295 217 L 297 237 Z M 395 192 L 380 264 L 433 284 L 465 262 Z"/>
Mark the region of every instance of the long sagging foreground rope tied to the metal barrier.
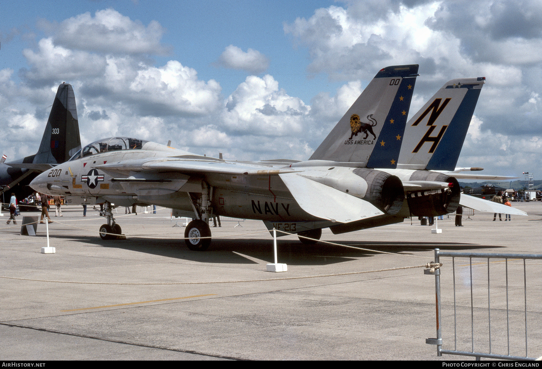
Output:
<path fill-rule="evenodd" d="M 264 281 L 282 281 L 282 280 L 291 280 L 291 279 L 321 278 L 321 277 L 330 277 L 330 276 L 339 276 L 339 275 L 399 271 L 402 269 L 413 269 L 413 268 L 433 268 L 433 267 L 438 268 L 440 266 L 442 266 L 442 264 L 440 263 L 427 263 L 427 264 L 422 264 L 422 265 L 414 265 L 410 267 L 377 269 L 374 271 L 363 271 L 363 272 L 346 272 L 346 273 L 305 275 L 305 276 L 283 277 L 283 278 L 246 279 L 246 280 L 209 281 L 209 282 L 168 282 L 168 283 L 72 282 L 72 281 L 50 281 L 50 280 L 44 280 L 44 279 L 15 278 L 15 277 L 3 276 L 3 275 L 0 275 L 0 278 L 16 279 L 16 280 L 21 280 L 21 281 L 35 281 L 35 282 L 74 283 L 74 284 L 80 284 L 80 285 L 160 285 L 160 286 L 161 285 L 206 285 L 206 284 L 218 284 L 218 283 L 264 282 Z"/>

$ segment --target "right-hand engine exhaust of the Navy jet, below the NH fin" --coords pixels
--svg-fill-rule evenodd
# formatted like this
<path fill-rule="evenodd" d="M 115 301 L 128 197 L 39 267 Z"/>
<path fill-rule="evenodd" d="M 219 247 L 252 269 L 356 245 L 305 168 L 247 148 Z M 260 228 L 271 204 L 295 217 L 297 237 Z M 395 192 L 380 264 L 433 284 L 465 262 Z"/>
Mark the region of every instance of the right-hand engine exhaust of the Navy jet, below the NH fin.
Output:
<path fill-rule="evenodd" d="M 436 181 L 452 183 L 446 189 L 420 190 L 406 193 L 406 201 L 414 216 L 439 216 L 455 212 L 459 206 L 461 189 L 455 177 L 442 173 L 416 170 L 410 181 Z"/>

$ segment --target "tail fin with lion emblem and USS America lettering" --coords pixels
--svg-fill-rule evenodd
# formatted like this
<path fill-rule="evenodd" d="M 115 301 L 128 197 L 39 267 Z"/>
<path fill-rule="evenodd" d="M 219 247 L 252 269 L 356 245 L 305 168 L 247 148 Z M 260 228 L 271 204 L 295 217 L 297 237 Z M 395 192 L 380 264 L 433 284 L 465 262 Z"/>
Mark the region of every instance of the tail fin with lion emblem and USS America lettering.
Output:
<path fill-rule="evenodd" d="M 380 70 L 309 160 L 395 168 L 417 73 L 418 64 Z"/>

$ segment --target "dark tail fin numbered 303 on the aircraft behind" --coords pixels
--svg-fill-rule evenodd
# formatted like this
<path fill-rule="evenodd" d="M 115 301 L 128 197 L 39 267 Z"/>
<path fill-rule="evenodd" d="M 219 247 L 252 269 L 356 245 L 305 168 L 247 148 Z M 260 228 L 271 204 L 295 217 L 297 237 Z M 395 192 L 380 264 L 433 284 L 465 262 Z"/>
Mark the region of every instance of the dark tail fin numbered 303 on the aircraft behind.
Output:
<path fill-rule="evenodd" d="M 33 163 L 60 164 L 81 148 L 79 122 L 72 85 L 62 83 Z"/>

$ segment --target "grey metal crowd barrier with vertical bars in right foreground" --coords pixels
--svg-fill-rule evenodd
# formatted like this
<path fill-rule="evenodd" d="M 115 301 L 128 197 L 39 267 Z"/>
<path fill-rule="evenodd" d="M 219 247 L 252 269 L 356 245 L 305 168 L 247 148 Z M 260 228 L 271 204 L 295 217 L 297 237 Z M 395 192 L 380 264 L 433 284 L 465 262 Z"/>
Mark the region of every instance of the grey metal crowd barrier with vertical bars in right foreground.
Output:
<path fill-rule="evenodd" d="M 449 290 L 441 293 L 442 267 L 434 270 L 425 269 L 424 272 L 435 275 L 437 328 L 437 337 L 428 338 L 425 343 L 437 346 L 437 356 L 451 354 L 476 357 L 476 360 L 480 358 L 535 360 L 535 357 L 529 357 L 528 344 L 530 334 L 536 336 L 535 346 L 539 347 L 542 343 L 539 330 L 542 314 L 539 311 L 538 291 L 540 264 L 530 267 L 537 269 L 535 272 L 527 273 L 525 261 L 540 260 L 542 255 L 443 252 L 435 249 L 435 263 L 441 262 L 440 258 L 446 256 L 452 258 L 453 298 Z M 468 261 L 456 258 L 468 258 Z M 523 270 L 513 273 L 512 276 L 509 273 L 510 268 Z M 521 278 L 518 279 L 517 275 Z M 483 281 L 485 279 L 487 281 Z M 448 279 L 443 283 L 446 286 L 451 285 Z M 442 294 L 447 295 L 446 299 L 442 298 Z M 443 325 L 447 328 L 452 325 L 450 321 L 442 318 L 442 309 L 443 306 L 450 307 L 450 300 L 453 300 L 453 314 L 447 311 L 445 316 L 451 318 L 453 315 L 453 350 L 442 348 Z M 530 301 L 530 304 L 527 304 L 527 301 Z M 464 324 L 465 320 L 470 320 L 470 329 Z M 461 348 L 458 346 L 458 340 Z M 525 356 L 522 355 L 523 352 Z"/>

